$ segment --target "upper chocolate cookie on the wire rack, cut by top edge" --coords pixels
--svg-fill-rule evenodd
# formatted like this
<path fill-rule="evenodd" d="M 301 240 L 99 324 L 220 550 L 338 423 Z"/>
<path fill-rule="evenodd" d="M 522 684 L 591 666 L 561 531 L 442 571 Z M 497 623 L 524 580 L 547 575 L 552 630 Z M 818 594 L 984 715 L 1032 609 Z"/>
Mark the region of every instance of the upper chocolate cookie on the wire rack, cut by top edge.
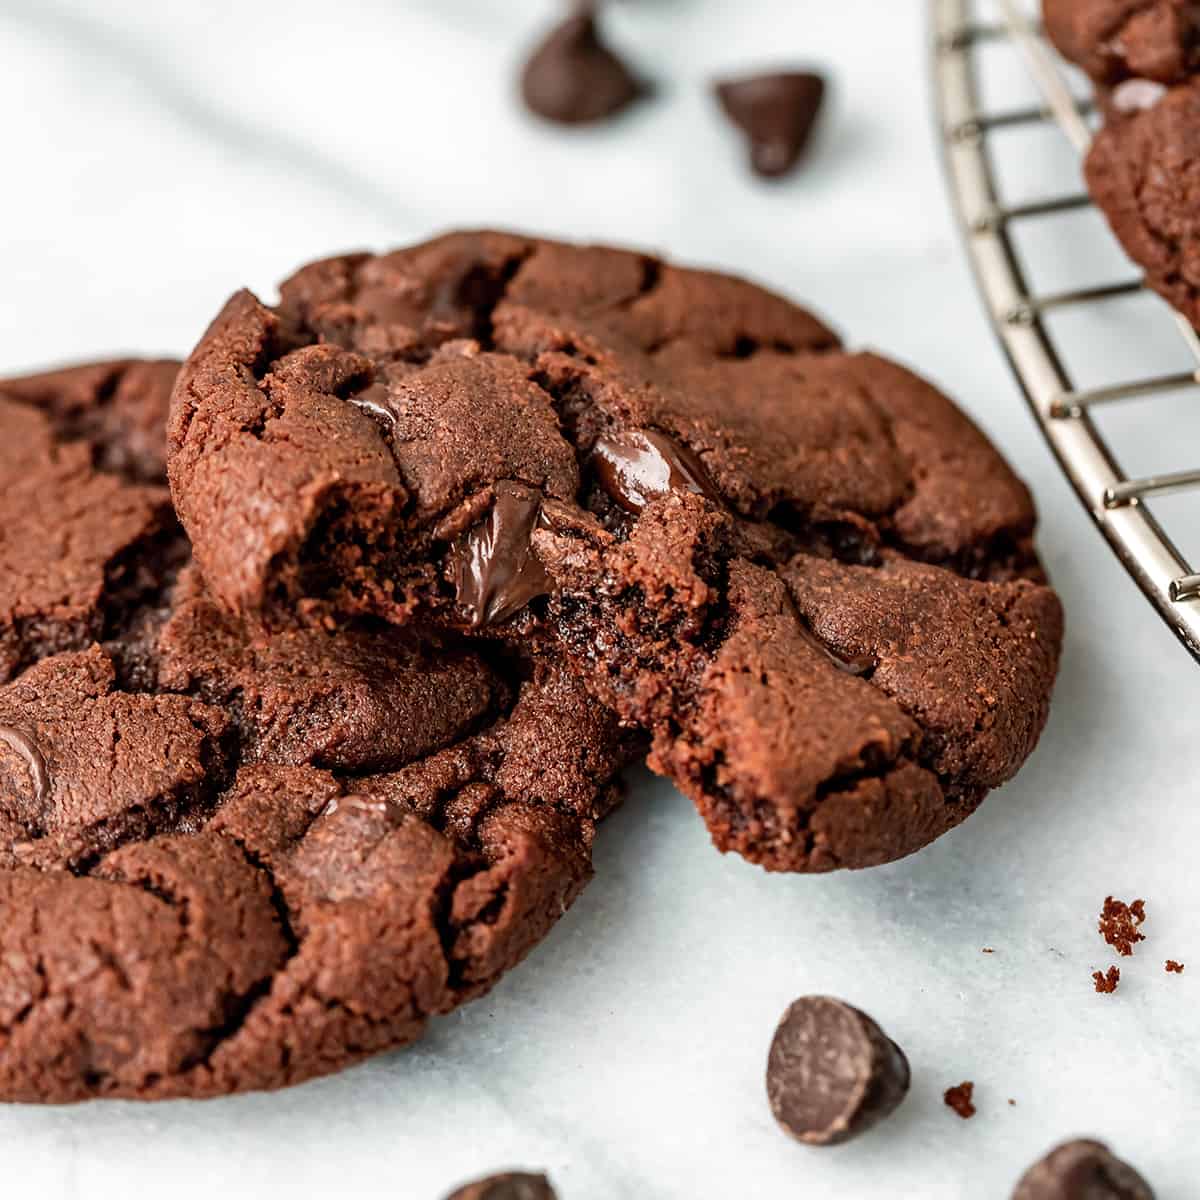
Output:
<path fill-rule="evenodd" d="M 1046 34 L 1097 83 L 1178 83 L 1200 65 L 1196 0 L 1043 0 Z"/>

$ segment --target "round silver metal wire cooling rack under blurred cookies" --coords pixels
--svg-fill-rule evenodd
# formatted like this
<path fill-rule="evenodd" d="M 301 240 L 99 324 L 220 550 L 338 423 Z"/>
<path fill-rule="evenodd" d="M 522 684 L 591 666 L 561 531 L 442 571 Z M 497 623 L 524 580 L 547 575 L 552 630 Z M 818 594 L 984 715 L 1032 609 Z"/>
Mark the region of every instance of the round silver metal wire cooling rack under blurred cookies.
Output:
<path fill-rule="evenodd" d="M 1129 278 L 1042 294 L 1031 290 L 1025 270 L 1031 264 L 1019 253 L 1018 232 L 1086 209 L 1091 200 L 1080 184 L 1062 194 L 1003 203 L 994 139 L 1013 127 L 1056 125 L 1069 143 L 1064 152 L 1078 157 L 1092 137 L 1090 103 L 1072 91 L 1054 49 L 1016 0 L 991 0 L 986 10 L 982 0 L 931 0 L 931 5 L 935 95 L 947 176 L 992 328 L 1080 500 L 1159 616 L 1200 660 L 1200 571 L 1151 511 L 1168 493 L 1200 494 L 1200 466 L 1184 461 L 1178 469 L 1129 476 L 1118 466 L 1117 446 L 1110 444 L 1116 439 L 1105 439 L 1094 419 L 1100 406 L 1153 401 L 1198 384 L 1200 341 L 1190 325 L 1164 307 L 1162 320 L 1174 317 L 1177 322 L 1187 361 L 1194 364 L 1190 370 L 1139 372 L 1098 386 L 1073 384 L 1076 362 L 1052 336 L 1048 317 L 1105 305 L 1140 292 L 1142 284 Z M 1007 108 L 982 106 L 984 53 L 1019 58 L 1040 101 Z M 1163 437 L 1170 439 L 1169 428 Z M 1181 458 L 1187 449 L 1186 444 L 1175 446 Z M 1195 463 L 1200 450 L 1194 444 L 1190 450 Z M 1182 528 L 1177 532 L 1183 533 Z"/>

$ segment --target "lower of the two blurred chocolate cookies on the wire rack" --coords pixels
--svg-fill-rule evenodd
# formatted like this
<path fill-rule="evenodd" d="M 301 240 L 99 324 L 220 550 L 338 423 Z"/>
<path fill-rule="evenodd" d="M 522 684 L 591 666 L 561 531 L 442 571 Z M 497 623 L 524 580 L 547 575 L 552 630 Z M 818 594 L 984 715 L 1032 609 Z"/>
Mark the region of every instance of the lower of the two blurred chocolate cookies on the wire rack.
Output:
<path fill-rule="evenodd" d="M 1123 88 L 1130 84 L 1123 84 Z M 1087 155 L 1092 197 L 1146 283 L 1200 324 L 1200 78 L 1105 122 Z"/>

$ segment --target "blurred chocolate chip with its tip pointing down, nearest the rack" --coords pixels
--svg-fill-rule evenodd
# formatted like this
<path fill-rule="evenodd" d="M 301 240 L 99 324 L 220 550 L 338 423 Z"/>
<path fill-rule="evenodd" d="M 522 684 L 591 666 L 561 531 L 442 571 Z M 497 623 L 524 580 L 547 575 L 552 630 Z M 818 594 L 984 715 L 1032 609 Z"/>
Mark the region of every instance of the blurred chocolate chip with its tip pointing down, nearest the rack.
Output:
<path fill-rule="evenodd" d="M 767 178 L 786 175 L 808 145 L 824 79 L 788 71 L 727 79 L 715 91 L 730 120 L 750 139 L 750 166 Z"/>

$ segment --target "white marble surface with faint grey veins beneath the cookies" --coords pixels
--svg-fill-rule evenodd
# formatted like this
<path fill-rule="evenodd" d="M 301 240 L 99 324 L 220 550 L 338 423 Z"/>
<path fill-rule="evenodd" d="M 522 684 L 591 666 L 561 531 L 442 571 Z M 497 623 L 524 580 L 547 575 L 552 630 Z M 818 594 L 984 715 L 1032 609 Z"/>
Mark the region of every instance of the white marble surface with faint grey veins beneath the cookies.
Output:
<path fill-rule="evenodd" d="M 234 287 L 463 223 L 750 272 L 919 364 L 1033 485 L 1069 618 L 1043 744 L 962 829 L 828 878 L 720 858 L 638 776 L 575 910 L 415 1049 L 280 1096 L 2 1109 L 0 1190 L 436 1200 L 527 1164 L 564 1200 L 1003 1198 L 1056 1139 L 1091 1133 L 1160 1198 L 1200 1194 L 1200 677 L 1058 478 L 984 325 L 935 158 L 924 5 L 622 5 L 661 96 L 574 134 L 510 94 L 553 7 L 0 0 L 0 371 L 182 353 Z M 703 89 L 770 61 L 835 79 L 809 168 L 774 187 L 740 169 Z M 1070 178 L 1055 149 L 1014 154 L 1030 193 Z M 1043 242 L 1064 277 L 1100 270 L 1066 226 Z M 1133 353 L 1115 319 L 1073 331 L 1097 371 Z M 1134 466 L 1196 445 L 1195 424 L 1164 438 L 1148 415 L 1117 418 Z M 1146 896 L 1148 940 L 1097 996 L 1109 892 Z M 1187 973 L 1164 974 L 1168 956 Z M 811 991 L 875 1014 L 914 1072 L 894 1120 L 824 1152 L 775 1129 L 762 1086 L 775 1019 Z M 961 1122 L 941 1094 L 967 1078 L 979 1115 Z"/>

